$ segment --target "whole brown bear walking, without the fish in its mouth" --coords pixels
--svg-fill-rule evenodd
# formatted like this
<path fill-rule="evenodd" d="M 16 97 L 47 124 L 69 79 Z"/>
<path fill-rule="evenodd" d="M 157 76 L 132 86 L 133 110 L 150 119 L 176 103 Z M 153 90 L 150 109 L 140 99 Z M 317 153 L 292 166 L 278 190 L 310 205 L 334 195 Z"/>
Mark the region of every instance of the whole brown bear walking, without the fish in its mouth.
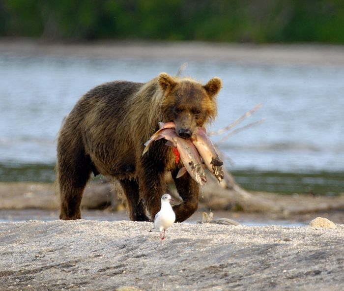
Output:
<path fill-rule="evenodd" d="M 217 114 L 216 94 L 222 86 L 214 77 L 204 86 L 191 78 L 161 73 L 147 83 L 114 81 L 88 91 L 65 118 L 57 142 L 60 219 L 80 219 L 80 203 L 90 177 L 117 179 L 125 193 L 131 220 L 149 221 L 160 209 L 167 171 L 183 199 L 175 205 L 176 221 L 198 207 L 199 184 L 189 175 L 176 178 L 176 164 L 165 140 L 142 155 L 144 142 L 159 129 L 158 122 L 174 121 L 176 133 L 190 138 Z"/>

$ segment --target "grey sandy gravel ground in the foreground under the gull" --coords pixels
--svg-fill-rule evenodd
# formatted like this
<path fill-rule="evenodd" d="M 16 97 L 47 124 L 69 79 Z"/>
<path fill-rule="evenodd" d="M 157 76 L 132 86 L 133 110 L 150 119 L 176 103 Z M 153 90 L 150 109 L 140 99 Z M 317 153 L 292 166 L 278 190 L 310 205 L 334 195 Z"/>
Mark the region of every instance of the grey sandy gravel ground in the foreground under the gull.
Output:
<path fill-rule="evenodd" d="M 343 290 L 344 226 L 0 223 L 0 290 Z"/>

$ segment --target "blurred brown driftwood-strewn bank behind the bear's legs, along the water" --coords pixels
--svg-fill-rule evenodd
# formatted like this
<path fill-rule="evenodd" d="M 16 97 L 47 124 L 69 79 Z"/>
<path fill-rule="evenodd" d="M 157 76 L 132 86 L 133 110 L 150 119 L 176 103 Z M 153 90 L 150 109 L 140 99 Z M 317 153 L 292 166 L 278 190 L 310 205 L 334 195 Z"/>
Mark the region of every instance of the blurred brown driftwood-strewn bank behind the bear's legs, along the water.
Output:
<path fill-rule="evenodd" d="M 209 176 L 209 175 L 208 175 Z M 229 176 L 230 178 L 230 176 Z M 123 209 L 121 197 L 108 182 L 93 181 L 86 187 L 82 208 Z M 181 201 L 173 183 L 170 193 Z M 32 182 L 0 182 L 0 209 L 58 209 L 58 196 L 54 184 Z M 344 208 L 344 196 L 314 197 L 310 195 L 278 195 L 248 193 L 235 182 L 231 189 L 224 188 L 215 179 L 201 188 L 199 208 L 204 211 L 231 210 L 278 213 L 283 216 Z"/>

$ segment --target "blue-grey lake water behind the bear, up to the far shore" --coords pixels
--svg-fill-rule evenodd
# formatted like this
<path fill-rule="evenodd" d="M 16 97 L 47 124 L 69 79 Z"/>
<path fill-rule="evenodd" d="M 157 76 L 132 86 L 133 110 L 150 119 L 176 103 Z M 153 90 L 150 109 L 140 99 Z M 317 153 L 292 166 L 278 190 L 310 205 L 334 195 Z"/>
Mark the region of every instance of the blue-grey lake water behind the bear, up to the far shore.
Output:
<path fill-rule="evenodd" d="M 0 55 L 0 180 L 54 179 L 57 132 L 81 95 L 112 80 L 176 74 L 183 61 Z M 223 80 L 211 130 L 262 104 L 238 127 L 264 123 L 219 145 L 239 182 L 344 192 L 344 66 L 193 61 L 184 75 Z"/>

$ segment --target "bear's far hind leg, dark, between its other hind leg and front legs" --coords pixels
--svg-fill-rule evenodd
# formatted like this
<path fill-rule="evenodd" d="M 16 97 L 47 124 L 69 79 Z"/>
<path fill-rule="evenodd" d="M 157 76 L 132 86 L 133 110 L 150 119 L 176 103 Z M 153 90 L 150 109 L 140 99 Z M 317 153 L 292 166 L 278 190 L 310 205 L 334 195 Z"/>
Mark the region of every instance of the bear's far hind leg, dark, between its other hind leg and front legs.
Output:
<path fill-rule="evenodd" d="M 136 180 L 123 179 L 120 184 L 127 197 L 130 220 L 132 221 L 149 221 L 149 218 L 144 214 L 143 202 L 139 196 L 139 185 Z"/>

